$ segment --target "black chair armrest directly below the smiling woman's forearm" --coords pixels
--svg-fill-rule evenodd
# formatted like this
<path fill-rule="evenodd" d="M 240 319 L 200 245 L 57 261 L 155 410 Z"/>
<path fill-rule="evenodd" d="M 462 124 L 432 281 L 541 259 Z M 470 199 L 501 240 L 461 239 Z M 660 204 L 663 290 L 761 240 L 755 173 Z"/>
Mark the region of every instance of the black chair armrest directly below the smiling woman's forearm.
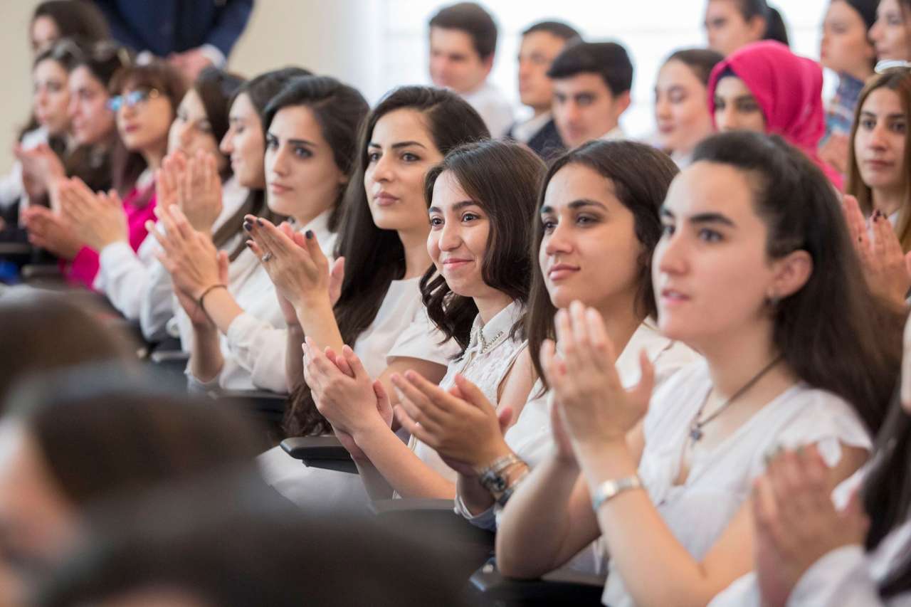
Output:
<path fill-rule="evenodd" d="M 456 543 L 477 547 L 484 558 L 494 549 L 494 534 L 458 515 L 452 499 L 375 499 L 370 509 L 384 523 L 403 521 L 409 527 L 417 525 Z M 480 561 L 483 558 L 475 564 Z"/>

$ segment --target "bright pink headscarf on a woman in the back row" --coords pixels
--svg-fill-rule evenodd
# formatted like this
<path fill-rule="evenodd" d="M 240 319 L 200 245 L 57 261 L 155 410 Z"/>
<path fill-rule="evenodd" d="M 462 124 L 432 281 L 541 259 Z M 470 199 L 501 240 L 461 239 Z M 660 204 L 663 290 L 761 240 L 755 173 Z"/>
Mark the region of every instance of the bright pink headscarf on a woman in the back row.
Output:
<path fill-rule="evenodd" d="M 711 70 L 709 112 L 715 120 L 715 87 L 725 71 L 742 79 L 765 116 L 765 132 L 781 135 L 822 169 L 836 188 L 842 176 L 816 152 L 825 132 L 823 69 L 812 59 L 798 57 L 774 40 L 743 46 Z M 717 127 L 716 127 L 717 128 Z"/>

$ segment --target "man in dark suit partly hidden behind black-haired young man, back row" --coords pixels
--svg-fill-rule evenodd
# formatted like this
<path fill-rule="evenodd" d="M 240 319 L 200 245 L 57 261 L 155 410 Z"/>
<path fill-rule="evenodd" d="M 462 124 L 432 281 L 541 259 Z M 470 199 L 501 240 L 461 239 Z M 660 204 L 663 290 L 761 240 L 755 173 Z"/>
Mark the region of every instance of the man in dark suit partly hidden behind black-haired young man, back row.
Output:
<path fill-rule="evenodd" d="M 557 125 L 550 114 L 554 87 L 548 69 L 568 42 L 580 39 L 571 26 L 542 21 L 522 32 L 518 54 L 518 94 L 534 116 L 509 128 L 507 137 L 526 143 L 538 156 L 550 159 L 563 150 Z"/>

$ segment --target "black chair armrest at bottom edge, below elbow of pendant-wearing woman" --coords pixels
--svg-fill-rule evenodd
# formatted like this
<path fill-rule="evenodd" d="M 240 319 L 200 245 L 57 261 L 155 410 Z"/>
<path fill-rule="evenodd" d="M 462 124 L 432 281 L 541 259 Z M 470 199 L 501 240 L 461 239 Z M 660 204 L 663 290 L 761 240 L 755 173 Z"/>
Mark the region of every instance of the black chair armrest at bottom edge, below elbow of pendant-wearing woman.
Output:
<path fill-rule="evenodd" d="M 578 571 L 551 571 L 538 580 L 505 577 L 492 562 L 475 571 L 470 580 L 484 604 L 510 605 L 601 605 L 604 577 Z"/>

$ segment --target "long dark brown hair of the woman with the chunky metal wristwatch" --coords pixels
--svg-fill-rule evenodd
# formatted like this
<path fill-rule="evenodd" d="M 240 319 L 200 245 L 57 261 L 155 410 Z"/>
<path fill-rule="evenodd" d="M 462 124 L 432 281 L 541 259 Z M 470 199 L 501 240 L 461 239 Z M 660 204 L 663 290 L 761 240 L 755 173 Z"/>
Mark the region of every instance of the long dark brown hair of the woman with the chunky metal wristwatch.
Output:
<path fill-rule="evenodd" d="M 544 178 L 538 195 L 538 209 L 544 205 L 548 183 L 558 171 L 578 164 L 596 171 L 614 186 L 617 200 L 633 215 L 633 231 L 640 243 L 639 284 L 633 314 L 656 318 L 658 307 L 651 283 L 651 253 L 661 238 L 659 210 L 670 188 L 670 182 L 680 170 L 667 154 L 634 141 L 589 141 L 554 160 Z M 531 283 L 531 305 L 527 315 L 528 352 L 537 376 L 547 388 L 544 369 L 537 353 L 545 339 L 556 339 L 554 314 L 557 308 L 550 301 L 548 285 L 537 265 L 538 251 L 544 240 L 544 223 L 540 213 L 535 215 L 531 258 L 536 267 Z M 606 270 L 606 272 L 609 270 Z"/>

